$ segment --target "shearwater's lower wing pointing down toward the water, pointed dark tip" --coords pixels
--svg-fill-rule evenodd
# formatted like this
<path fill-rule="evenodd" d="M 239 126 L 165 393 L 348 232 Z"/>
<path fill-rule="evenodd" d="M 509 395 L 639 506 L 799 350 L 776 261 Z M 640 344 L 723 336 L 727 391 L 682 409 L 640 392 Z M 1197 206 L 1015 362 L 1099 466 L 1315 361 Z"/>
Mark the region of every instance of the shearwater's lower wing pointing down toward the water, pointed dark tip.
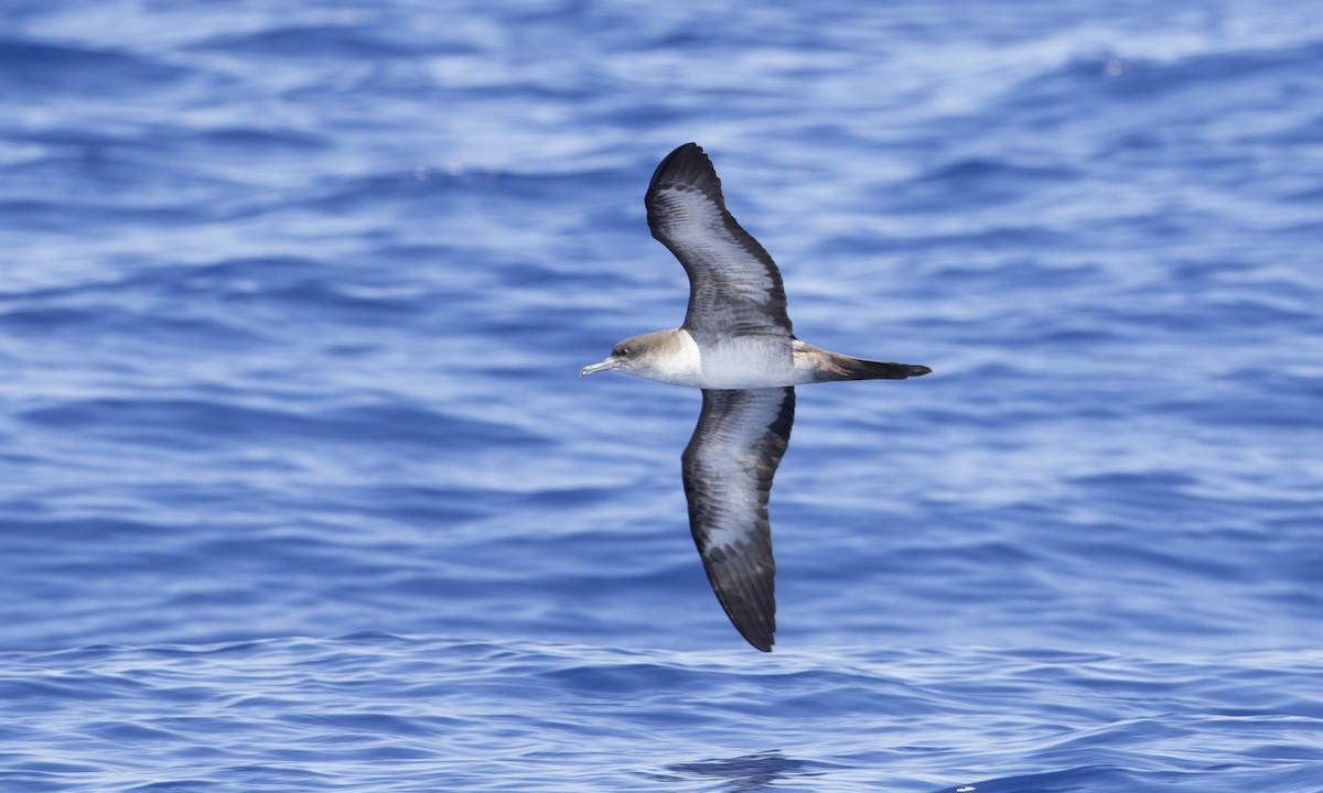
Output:
<path fill-rule="evenodd" d="M 740 634 L 765 653 L 777 632 L 767 496 L 794 423 L 792 387 L 704 389 L 681 457 L 689 530 L 708 580 Z"/>

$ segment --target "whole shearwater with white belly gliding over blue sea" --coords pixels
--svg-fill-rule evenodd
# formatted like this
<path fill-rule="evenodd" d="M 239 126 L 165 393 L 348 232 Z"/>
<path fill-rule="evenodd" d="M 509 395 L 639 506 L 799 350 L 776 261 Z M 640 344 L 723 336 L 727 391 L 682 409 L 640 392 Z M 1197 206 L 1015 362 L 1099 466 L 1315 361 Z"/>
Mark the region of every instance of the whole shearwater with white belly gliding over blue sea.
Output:
<path fill-rule="evenodd" d="M 652 237 L 689 275 L 684 324 L 626 338 L 579 377 L 615 370 L 703 389 L 703 412 L 681 460 L 689 530 L 726 616 L 753 646 L 777 630 L 767 496 L 790 443 L 795 386 L 905 379 L 927 366 L 865 361 L 795 338 L 781 271 L 726 211 L 721 180 L 699 145 L 671 152 L 644 204 Z"/>

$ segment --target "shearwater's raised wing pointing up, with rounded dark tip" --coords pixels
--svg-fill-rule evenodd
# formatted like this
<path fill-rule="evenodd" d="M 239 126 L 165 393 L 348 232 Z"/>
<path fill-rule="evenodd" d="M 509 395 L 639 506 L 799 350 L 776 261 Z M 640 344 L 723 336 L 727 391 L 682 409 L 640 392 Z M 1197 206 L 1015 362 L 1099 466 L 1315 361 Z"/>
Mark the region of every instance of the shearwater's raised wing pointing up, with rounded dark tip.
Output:
<path fill-rule="evenodd" d="M 652 237 L 689 274 L 683 328 L 792 334 L 777 263 L 726 211 L 721 180 L 701 148 L 687 143 L 662 160 L 644 204 Z"/>

